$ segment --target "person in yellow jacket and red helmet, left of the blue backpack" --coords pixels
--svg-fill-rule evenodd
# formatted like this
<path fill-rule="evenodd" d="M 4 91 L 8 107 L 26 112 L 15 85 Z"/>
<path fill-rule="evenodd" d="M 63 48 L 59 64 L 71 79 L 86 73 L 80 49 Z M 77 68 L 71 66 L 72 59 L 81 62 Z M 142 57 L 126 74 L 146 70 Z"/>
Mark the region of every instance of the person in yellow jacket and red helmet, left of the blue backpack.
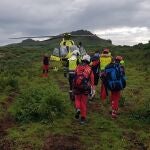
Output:
<path fill-rule="evenodd" d="M 108 48 L 104 49 L 102 54 L 100 55 L 100 78 L 101 88 L 100 88 L 100 98 L 102 102 L 106 99 L 108 93 L 106 88 L 106 81 L 104 76 L 105 67 L 112 62 L 112 56 Z"/>

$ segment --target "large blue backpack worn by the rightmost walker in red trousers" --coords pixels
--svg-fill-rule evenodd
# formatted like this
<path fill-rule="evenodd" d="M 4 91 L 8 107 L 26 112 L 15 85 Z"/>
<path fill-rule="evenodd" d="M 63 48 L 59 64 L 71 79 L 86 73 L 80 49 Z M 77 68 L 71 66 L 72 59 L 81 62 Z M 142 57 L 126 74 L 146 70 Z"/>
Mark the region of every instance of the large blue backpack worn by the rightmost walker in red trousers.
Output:
<path fill-rule="evenodd" d="M 110 64 L 105 68 L 106 86 L 111 91 L 120 91 L 126 87 L 124 71 L 120 64 Z"/>

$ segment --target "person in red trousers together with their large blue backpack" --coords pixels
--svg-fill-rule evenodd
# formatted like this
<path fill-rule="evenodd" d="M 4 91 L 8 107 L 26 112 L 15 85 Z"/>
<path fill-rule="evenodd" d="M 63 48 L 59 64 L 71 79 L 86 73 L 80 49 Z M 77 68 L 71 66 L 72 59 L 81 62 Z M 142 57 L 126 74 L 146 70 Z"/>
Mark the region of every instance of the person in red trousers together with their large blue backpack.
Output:
<path fill-rule="evenodd" d="M 108 90 L 111 91 L 110 100 L 112 107 L 112 118 L 117 118 L 118 105 L 121 90 L 126 86 L 124 61 L 121 56 L 117 56 L 113 63 L 105 68 L 105 77 Z"/>

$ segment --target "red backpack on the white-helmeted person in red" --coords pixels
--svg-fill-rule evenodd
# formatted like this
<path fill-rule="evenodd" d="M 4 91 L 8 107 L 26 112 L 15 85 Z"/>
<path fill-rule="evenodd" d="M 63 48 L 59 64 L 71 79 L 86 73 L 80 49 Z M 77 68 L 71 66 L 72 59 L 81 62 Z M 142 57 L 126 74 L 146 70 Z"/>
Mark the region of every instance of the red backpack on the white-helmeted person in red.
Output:
<path fill-rule="evenodd" d="M 90 74 L 91 72 L 92 70 L 90 71 Z M 73 81 L 74 89 L 80 92 L 90 91 L 91 90 L 91 86 L 89 84 L 90 74 L 87 75 L 85 66 L 79 65 L 77 67 L 77 71 Z"/>

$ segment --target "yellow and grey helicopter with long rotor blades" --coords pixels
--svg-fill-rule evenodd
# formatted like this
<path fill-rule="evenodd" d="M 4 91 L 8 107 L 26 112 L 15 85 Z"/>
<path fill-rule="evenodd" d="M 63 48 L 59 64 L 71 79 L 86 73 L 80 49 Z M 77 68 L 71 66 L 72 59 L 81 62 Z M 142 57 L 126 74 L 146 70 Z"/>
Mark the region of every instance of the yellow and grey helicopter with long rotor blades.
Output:
<path fill-rule="evenodd" d="M 64 62 L 71 57 L 72 52 L 74 50 L 78 50 L 80 52 L 80 56 L 87 54 L 86 50 L 82 46 L 82 42 L 79 42 L 77 45 L 71 39 L 72 37 L 92 37 L 95 36 L 93 34 L 71 34 L 71 33 L 63 33 L 56 36 L 26 36 L 26 37 L 17 37 L 17 38 L 10 38 L 10 39 L 32 39 L 32 38 L 49 38 L 49 40 L 59 39 L 62 38 L 60 41 L 59 47 L 54 48 L 50 55 L 50 61 L 52 62 L 62 62 L 61 64 L 64 65 Z M 56 66 L 60 66 L 57 63 L 54 63 Z"/>

